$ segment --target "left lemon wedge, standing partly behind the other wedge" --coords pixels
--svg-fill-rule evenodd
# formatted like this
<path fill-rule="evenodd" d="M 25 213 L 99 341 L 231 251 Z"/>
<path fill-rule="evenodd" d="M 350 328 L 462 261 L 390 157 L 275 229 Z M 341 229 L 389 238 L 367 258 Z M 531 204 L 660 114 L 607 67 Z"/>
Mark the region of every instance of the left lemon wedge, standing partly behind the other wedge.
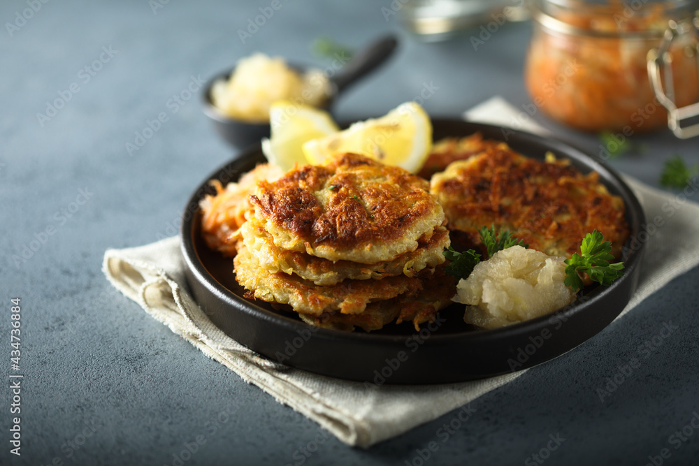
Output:
<path fill-rule="evenodd" d="M 301 146 L 308 140 L 340 131 L 328 112 L 303 103 L 276 101 L 269 110 L 270 138 L 262 140 L 269 163 L 288 171 L 308 163 Z"/>

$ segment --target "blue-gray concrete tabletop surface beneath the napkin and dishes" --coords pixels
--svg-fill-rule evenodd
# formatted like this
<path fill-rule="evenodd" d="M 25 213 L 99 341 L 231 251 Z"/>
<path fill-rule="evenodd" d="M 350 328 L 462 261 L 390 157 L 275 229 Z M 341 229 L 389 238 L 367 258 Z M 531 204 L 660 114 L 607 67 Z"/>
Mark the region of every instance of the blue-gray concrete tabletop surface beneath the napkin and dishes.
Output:
<path fill-rule="evenodd" d="M 447 43 L 416 41 L 397 16 L 384 17 L 389 0 L 281 0 L 243 43 L 238 29 L 270 4 L 1 3 L 0 463 L 644 465 L 650 457 L 696 464 L 697 268 L 581 347 L 476 400 L 477 413 L 437 451 L 428 446 L 456 413 L 366 451 L 318 437 L 317 424 L 245 384 L 108 285 L 104 250 L 173 234 L 192 189 L 234 156 L 203 117 L 199 96 L 185 99 L 184 91 L 196 92 L 199 78 L 251 52 L 327 66 L 310 54 L 317 36 L 358 47 L 396 32 L 400 50 L 338 101 L 342 119 L 382 115 L 424 85 L 436 88 L 424 101 L 433 115 L 457 117 L 496 94 L 529 103 L 521 72 L 526 23 L 505 24 L 473 50 L 469 36 L 477 29 Z M 166 122 L 145 131 L 161 113 Z M 598 151 L 596 137 L 533 118 Z M 150 138 L 129 153 L 127 143 L 144 131 Z M 668 133 L 635 140 L 647 150 L 610 163 L 651 185 L 672 154 L 699 162 L 697 140 Z M 13 260 L 35 240 L 36 251 Z M 21 457 L 10 453 L 11 298 L 22 306 Z M 663 322 L 677 329 L 600 401 L 598 388 L 641 345 L 658 341 Z M 683 428 L 686 437 L 677 437 Z M 315 453 L 299 453 L 315 449 L 316 438 L 324 440 Z M 669 458 L 661 458 L 663 449 Z"/>

